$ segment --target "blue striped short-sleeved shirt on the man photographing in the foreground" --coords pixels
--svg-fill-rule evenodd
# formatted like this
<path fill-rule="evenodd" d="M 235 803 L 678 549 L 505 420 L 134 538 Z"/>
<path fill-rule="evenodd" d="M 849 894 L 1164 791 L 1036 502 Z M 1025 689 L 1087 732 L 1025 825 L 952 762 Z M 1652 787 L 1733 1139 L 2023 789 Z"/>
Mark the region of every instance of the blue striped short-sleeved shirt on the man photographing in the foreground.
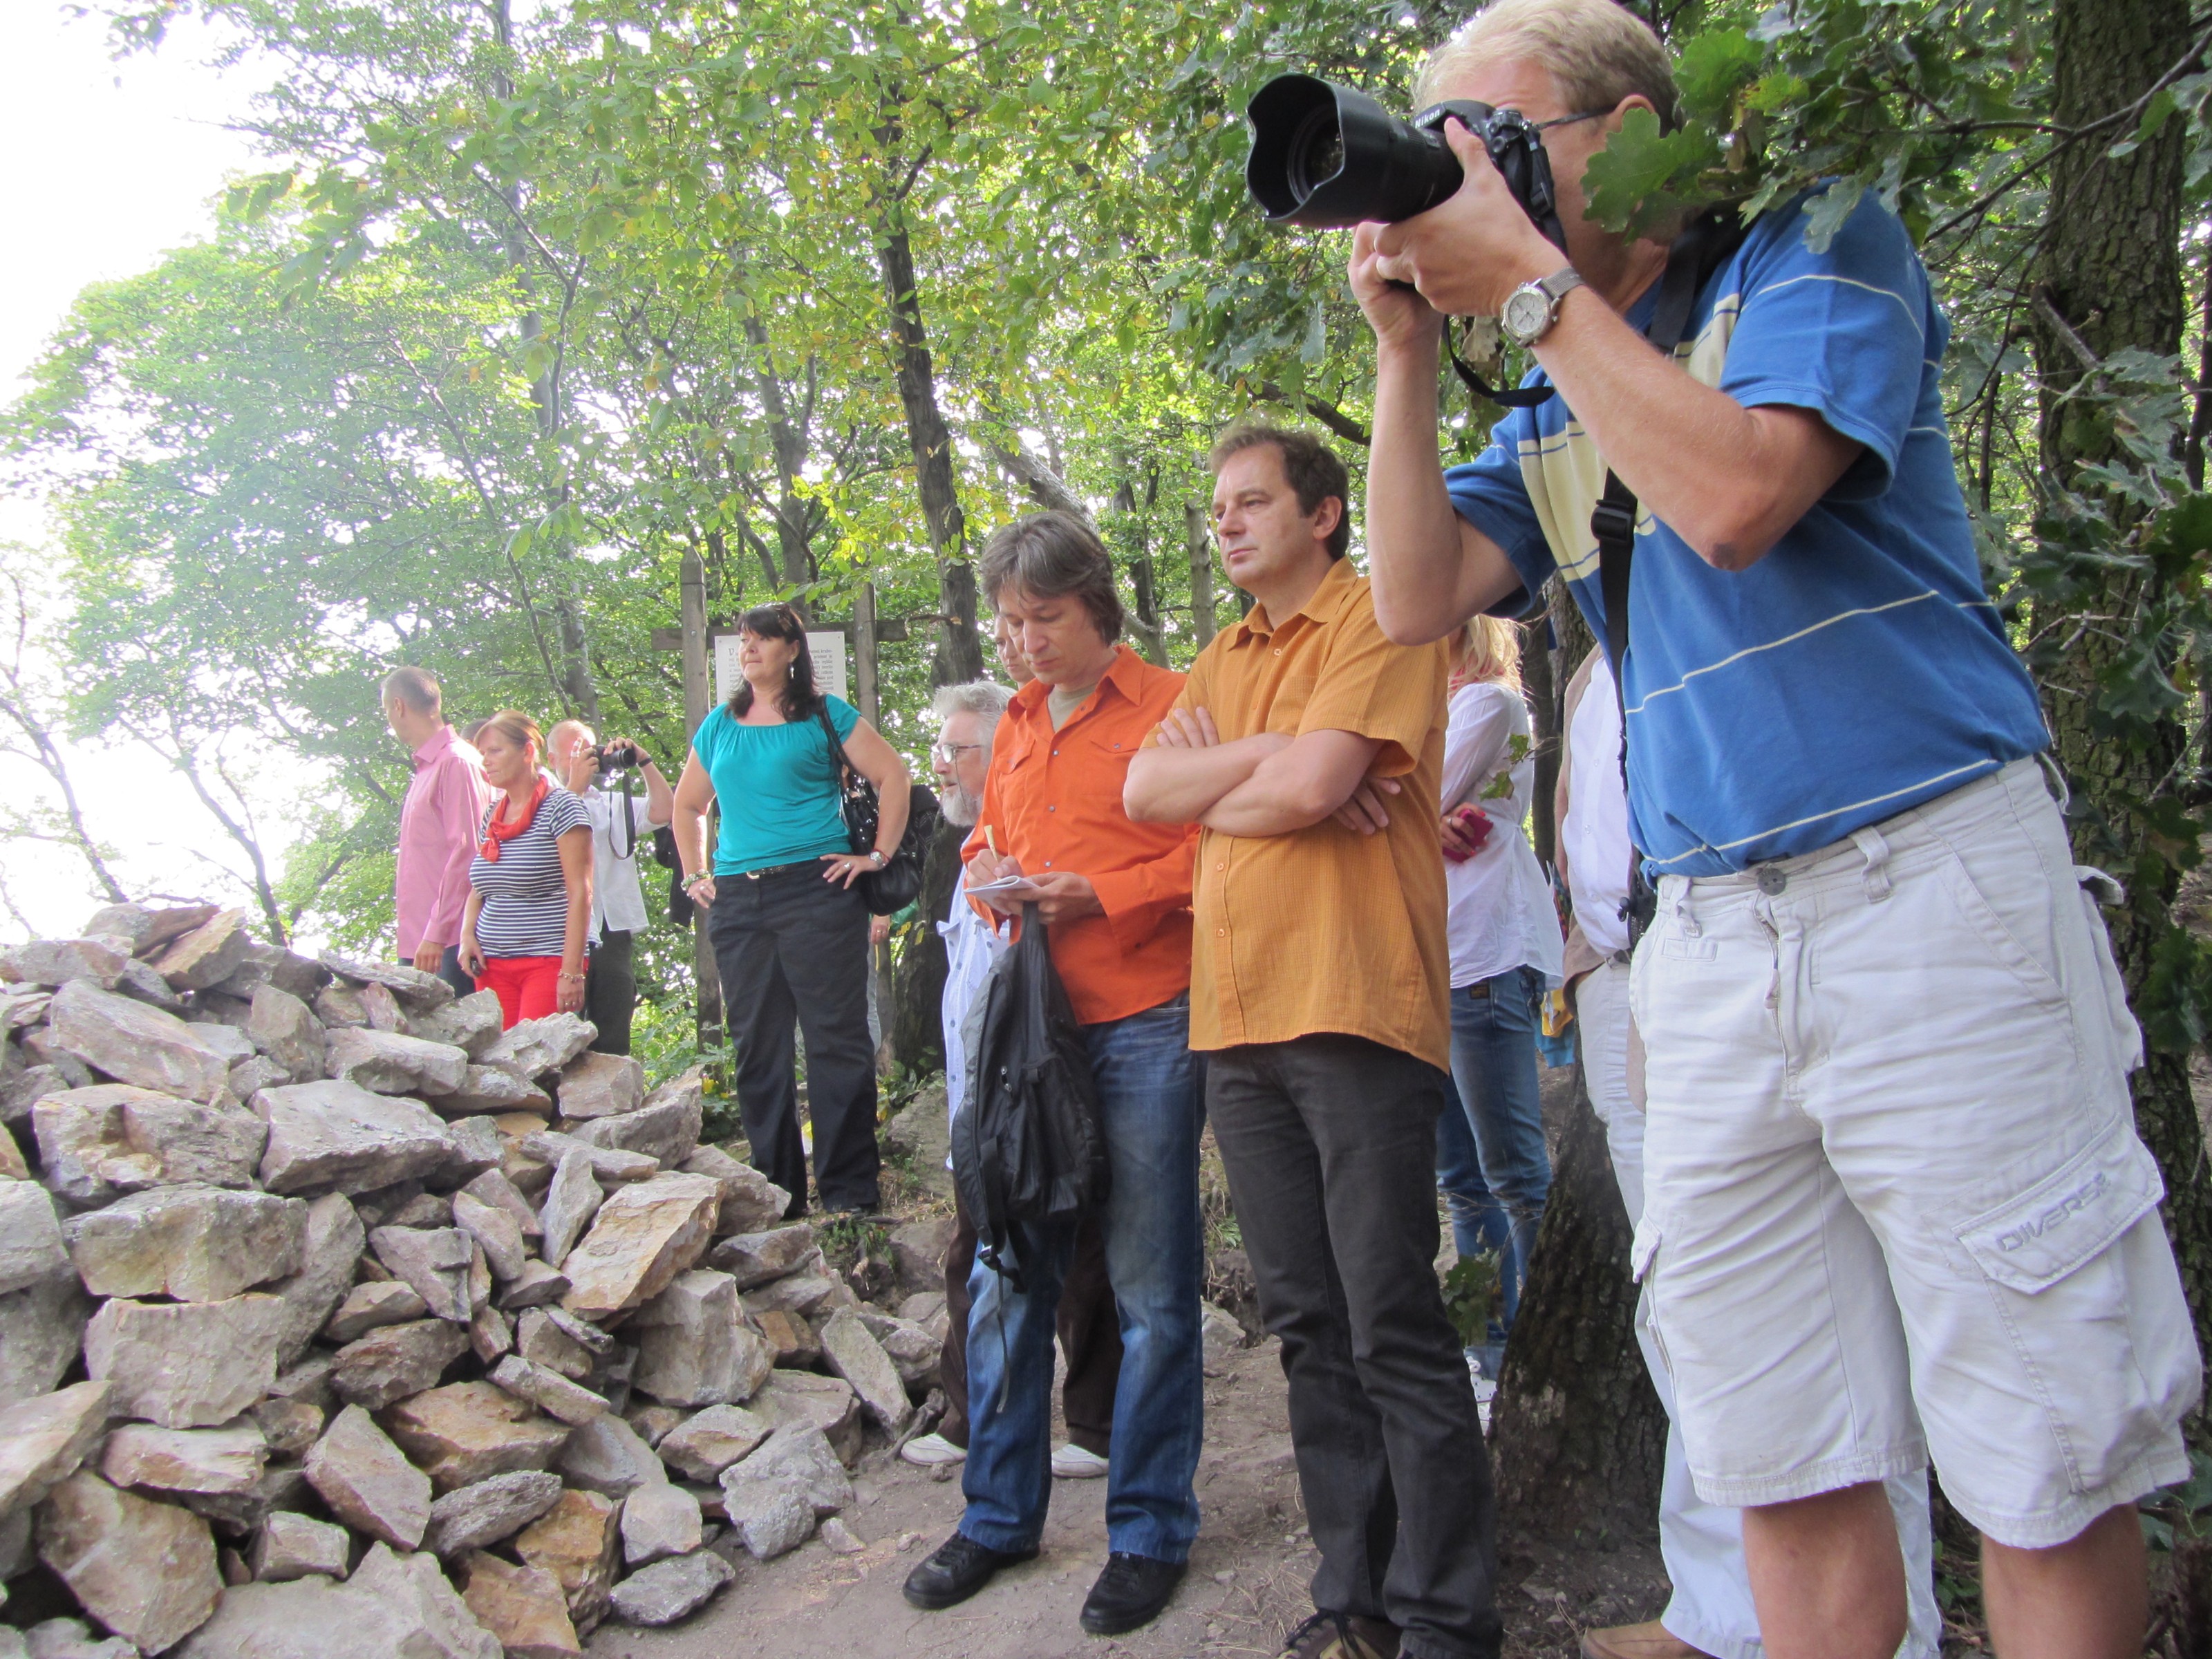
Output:
<path fill-rule="evenodd" d="M 1812 409 L 1865 449 L 1747 571 L 1712 568 L 1639 513 L 1628 799 L 1655 876 L 1814 852 L 2046 743 L 1982 588 L 1942 414 L 1949 325 L 1920 254 L 1871 195 L 1812 252 L 1809 199 L 1752 226 L 1677 358 L 1745 407 Z M 1641 327 L 1655 299 L 1628 321 Z M 1513 409 L 1447 484 L 1528 593 L 1562 571 L 1604 639 L 1590 509 L 1606 462 L 1562 398 Z"/>

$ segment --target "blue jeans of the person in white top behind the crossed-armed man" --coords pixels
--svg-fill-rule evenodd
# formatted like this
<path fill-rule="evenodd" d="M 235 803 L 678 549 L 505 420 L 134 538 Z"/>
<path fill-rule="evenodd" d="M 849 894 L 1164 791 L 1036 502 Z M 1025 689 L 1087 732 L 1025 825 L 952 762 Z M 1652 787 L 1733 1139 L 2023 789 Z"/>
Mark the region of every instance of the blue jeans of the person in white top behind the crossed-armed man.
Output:
<path fill-rule="evenodd" d="M 1500 1261 L 1509 1332 L 1551 1194 L 1544 1099 L 1535 1084 L 1535 1006 L 1542 993 L 1544 975 L 1531 967 L 1451 991 L 1451 1075 L 1475 1137 L 1482 1183 L 1504 1208 L 1511 1230 Z"/>

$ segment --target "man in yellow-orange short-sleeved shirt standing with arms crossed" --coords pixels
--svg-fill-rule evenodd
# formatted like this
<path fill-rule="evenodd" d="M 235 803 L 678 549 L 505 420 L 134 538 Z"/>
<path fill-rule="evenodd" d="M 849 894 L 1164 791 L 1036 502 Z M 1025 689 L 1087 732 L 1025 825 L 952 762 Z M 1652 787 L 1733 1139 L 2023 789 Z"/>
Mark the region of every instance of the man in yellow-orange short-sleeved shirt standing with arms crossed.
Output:
<path fill-rule="evenodd" d="M 1376 626 L 1325 445 L 1239 427 L 1212 467 L 1221 562 L 1254 606 L 1190 666 L 1126 801 L 1206 827 L 1190 1044 L 1321 1551 L 1290 1652 L 1495 1659 L 1489 1460 L 1431 1265 L 1447 653 Z"/>

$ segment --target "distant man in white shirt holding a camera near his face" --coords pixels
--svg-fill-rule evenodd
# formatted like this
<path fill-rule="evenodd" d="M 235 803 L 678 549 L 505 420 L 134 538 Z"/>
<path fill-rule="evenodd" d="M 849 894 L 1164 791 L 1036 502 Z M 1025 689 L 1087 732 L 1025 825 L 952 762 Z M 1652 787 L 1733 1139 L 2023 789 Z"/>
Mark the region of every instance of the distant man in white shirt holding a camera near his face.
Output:
<path fill-rule="evenodd" d="M 584 1018 L 599 1035 L 602 1055 L 630 1053 L 630 1013 L 637 1009 L 637 933 L 646 927 L 646 894 L 637 883 L 637 841 L 653 845 L 653 832 L 675 816 L 677 794 L 637 743 L 615 739 L 599 745 L 584 721 L 562 721 L 546 737 L 553 770 L 591 814 L 591 936 L 586 960 Z M 637 768 L 646 799 L 599 787 L 611 772 Z"/>

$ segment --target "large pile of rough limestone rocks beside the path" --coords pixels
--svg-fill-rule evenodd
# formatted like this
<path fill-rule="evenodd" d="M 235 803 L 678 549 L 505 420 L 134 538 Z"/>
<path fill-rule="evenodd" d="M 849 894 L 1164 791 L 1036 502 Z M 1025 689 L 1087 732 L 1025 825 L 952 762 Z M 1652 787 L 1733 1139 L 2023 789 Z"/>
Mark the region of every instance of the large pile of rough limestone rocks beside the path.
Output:
<path fill-rule="evenodd" d="M 0 1659 L 557 1659 L 856 1548 L 942 1298 L 591 1037 L 206 905 L 0 953 Z"/>

